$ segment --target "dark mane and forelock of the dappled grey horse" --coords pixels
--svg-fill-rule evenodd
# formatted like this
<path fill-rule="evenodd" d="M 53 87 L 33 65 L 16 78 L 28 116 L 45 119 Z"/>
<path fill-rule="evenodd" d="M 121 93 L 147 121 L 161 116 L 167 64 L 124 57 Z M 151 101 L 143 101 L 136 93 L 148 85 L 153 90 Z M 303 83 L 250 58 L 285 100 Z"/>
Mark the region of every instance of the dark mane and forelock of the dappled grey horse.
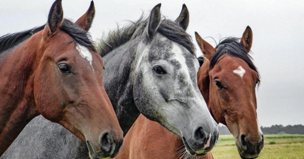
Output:
<path fill-rule="evenodd" d="M 149 17 L 143 14 L 140 18 L 116 30 L 109 31 L 107 37 L 100 39 L 97 49 L 99 54 L 103 57 L 110 51 L 125 44 L 127 41 L 133 40 L 143 34 L 148 25 Z M 158 33 L 164 35 L 166 38 L 184 46 L 192 55 L 195 55 L 195 45 L 192 42 L 191 36 L 181 28 L 176 22 L 166 18 L 161 19 L 161 24 L 157 28 Z"/>

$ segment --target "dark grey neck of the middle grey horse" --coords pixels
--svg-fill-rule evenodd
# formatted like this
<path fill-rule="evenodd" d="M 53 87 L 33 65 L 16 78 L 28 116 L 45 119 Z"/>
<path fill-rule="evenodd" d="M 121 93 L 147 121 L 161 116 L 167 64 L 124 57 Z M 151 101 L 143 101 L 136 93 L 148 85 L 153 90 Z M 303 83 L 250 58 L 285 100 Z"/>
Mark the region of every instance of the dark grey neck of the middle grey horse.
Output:
<path fill-rule="evenodd" d="M 136 65 L 138 41 L 128 41 L 103 57 L 103 79 L 123 135 L 129 131 L 140 112 L 133 98 L 133 68 Z M 114 73 L 113 73 L 114 72 Z"/>

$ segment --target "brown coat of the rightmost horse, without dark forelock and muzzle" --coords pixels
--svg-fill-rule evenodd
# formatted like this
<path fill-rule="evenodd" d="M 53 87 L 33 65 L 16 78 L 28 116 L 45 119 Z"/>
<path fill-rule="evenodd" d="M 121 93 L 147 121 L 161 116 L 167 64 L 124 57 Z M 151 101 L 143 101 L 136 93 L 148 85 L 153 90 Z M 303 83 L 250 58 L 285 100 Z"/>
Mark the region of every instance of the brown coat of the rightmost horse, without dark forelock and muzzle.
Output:
<path fill-rule="evenodd" d="M 209 60 L 216 49 L 204 41 L 196 32 L 195 36 L 206 58 L 198 72 L 198 86 L 209 111 L 217 122 L 223 123 L 229 128 L 237 141 L 240 134 L 246 134 L 253 144 L 257 144 L 261 141 L 256 114 L 255 85 L 258 80 L 257 72 L 249 68 L 245 61 L 230 55 L 223 55 L 214 68 L 210 70 Z M 252 42 L 252 32 L 249 27 L 246 28 L 240 42 L 249 52 Z M 243 78 L 233 74 L 233 70 L 237 69 L 238 66 L 242 66 L 246 70 Z M 214 78 L 222 80 L 221 82 L 226 84 L 226 87 L 229 84 L 231 90 L 227 92 L 219 91 L 213 82 Z M 227 94 L 231 95 L 227 96 Z M 182 140 L 177 135 L 166 130 L 160 124 L 148 120 L 143 115 L 137 118 L 124 140 L 123 148 L 116 159 L 176 159 L 180 157 L 178 151 L 183 145 Z M 211 159 L 213 156 L 209 152 L 197 158 Z"/>

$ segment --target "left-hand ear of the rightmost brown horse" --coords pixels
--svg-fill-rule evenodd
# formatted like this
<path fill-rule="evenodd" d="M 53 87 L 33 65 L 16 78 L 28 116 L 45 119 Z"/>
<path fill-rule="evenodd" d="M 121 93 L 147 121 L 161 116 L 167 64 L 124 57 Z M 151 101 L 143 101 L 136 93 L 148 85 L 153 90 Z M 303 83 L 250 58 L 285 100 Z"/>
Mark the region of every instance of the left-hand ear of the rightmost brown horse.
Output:
<path fill-rule="evenodd" d="M 195 39 L 204 57 L 207 58 L 208 60 L 211 60 L 212 56 L 216 52 L 216 49 L 213 48 L 207 41 L 202 39 L 202 37 L 199 36 L 199 34 L 196 31 L 195 31 Z"/>

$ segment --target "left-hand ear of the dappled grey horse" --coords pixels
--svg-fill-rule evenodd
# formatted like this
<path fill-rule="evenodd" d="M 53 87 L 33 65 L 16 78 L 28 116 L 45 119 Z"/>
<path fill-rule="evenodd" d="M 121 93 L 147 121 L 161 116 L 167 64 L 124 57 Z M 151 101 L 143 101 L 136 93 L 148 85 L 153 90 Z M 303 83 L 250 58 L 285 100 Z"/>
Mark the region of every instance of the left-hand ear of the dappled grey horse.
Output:
<path fill-rule="evenodd" d="M 157 28 L 161 24 L 161 3 L 155 5 L 150 13 L 149 23 L 148 23 L 148 36 L 154 36 Z"/>

